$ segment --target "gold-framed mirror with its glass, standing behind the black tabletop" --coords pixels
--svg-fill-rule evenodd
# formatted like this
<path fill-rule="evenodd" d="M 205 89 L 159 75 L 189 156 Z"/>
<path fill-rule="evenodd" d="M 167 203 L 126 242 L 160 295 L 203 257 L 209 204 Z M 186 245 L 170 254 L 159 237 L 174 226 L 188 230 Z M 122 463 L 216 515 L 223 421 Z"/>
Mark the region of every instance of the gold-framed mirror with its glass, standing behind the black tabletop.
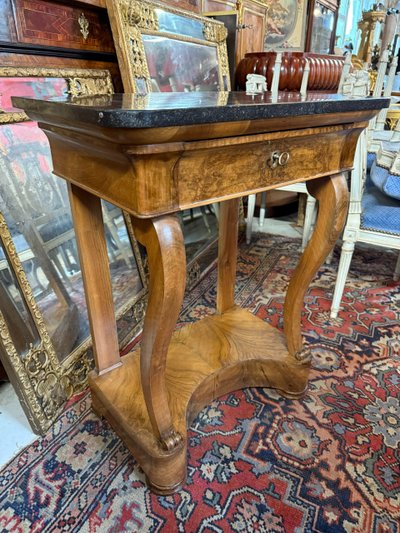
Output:
<path fill-rule="evenodd" d="M 230 90 L 222 22 L 157 2 L 107 0 L 126 93 Z M 180 214 L 193 283 L 210 263 L 218 234 L 218 206 Z"/>

